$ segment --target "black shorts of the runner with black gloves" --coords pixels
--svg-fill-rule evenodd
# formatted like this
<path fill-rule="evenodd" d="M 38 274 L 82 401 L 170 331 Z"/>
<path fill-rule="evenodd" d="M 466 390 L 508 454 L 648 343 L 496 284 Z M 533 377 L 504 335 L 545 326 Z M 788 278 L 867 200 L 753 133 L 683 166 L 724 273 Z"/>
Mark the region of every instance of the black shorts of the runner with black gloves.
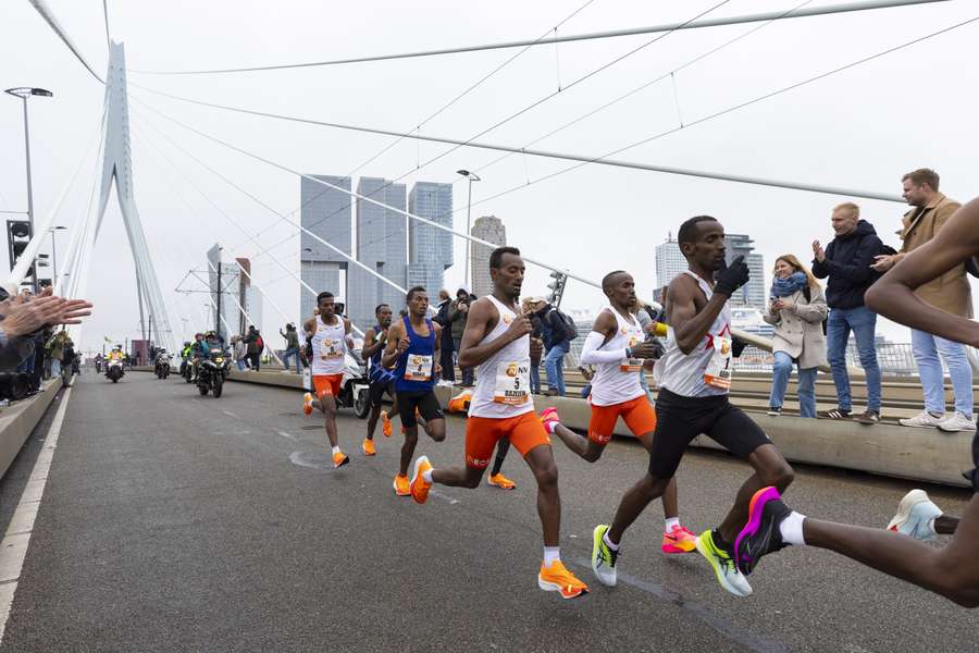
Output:
<path fill-rule="evenodd" d="M 686 447 L 702 433 L 745 460 L 763 444 L 771 444 L 765 431 L 733 406 L 728 395 L 684 397 L 660 390 L 656 418 L 649 475 L 657 479 L 677 473 Z"/>

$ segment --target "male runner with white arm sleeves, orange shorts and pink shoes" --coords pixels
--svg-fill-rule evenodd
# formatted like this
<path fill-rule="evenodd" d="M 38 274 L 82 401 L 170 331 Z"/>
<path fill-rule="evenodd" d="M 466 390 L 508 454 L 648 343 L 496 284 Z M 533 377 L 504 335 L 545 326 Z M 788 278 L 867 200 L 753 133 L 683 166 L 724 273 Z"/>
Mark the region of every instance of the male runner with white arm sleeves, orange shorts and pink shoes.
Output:
<path fill-rule="evenodd" d="M 579 435 L 561 424 L 556 408 L 546 408 L 541 414 L 541 421 L 550 434 L 560 438 L 568 448 L 588 463 L 602 457 L 619 417 L 646 451 L 653 451 L 656 430 L 656 411 L 640 382 L 645 359 L 654 356 L 656 344 L 646 340 L 632 312 L 639 301 L 635 281 L 622 270 L 609 272 L 602 280 L 602 291 L 610 306 L 598 313 L 581 350 L 581 362 L 597 368 L 588 397 L 592 404 L 588 436 Z M 666 523 L 661 551 L 690 553 L 696 549 L 697 537 L 680 526 L 677 479 L 670 479 L 662 494 L 662 512 Z"/>

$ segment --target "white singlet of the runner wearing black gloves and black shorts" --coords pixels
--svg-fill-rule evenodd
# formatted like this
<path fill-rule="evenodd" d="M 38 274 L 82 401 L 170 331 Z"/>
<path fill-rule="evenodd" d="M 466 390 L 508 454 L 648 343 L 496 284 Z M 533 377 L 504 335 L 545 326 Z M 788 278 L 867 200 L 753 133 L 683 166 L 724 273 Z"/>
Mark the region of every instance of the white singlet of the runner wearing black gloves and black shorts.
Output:
<path fill-rule="evenodd" d="M 683 273 L 696 280 L 709 301 L 714 289 L 707 282 L 690 270 L 684 270 Z M 731 309 L 724 304 L 707 330 L 707 335 L 690 354 L 680 350 L 673 328 L 669 328 L 666 354 L 656 362 L 654 377 L 659 387 L 673 394 L 703 397 L 728 394 L 731 389 Z"/>

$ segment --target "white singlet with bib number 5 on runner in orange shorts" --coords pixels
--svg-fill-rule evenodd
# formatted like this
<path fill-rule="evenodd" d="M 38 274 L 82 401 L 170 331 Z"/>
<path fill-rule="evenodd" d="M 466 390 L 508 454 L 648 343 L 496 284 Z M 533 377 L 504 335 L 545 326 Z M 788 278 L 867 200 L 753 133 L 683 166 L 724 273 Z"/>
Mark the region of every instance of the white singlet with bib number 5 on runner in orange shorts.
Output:
<path fill-rule="evenodd" d="M 492 343 L 510 328 L 517 313 L 492 295 L 499 320 L 480 344 Z M 470 417 L 506 419 L 534 409 L 530 393 L 530 335 L 508 343 L 476 368 L 476 386 L 469 406 Z"/>

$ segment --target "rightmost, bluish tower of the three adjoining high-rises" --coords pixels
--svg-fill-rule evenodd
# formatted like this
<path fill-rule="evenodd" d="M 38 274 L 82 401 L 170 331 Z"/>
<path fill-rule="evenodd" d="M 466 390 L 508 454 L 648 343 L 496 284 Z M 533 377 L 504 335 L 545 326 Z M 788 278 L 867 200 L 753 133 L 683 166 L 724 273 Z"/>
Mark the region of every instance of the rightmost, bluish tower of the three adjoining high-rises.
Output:
<path fill-rule="evenodd" d="M 408 194 L 408 212 L 451 229 L 453 185 L 418 182 Z M 451 264 L 453 234 L 409 219 L 406 287 L 423 286 L 434 303 L 445 283 L 445 271 Z"/>

